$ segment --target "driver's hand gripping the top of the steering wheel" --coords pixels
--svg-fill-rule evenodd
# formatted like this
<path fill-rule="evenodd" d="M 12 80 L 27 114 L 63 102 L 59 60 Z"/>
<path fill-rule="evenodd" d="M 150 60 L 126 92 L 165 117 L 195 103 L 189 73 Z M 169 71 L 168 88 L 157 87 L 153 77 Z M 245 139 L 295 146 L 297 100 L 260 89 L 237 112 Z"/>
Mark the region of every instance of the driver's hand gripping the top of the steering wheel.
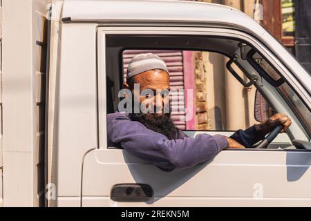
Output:
<path fill-rule="evenodd" d="M 292 124 L 292 120 L 290 119 L 290 117 L 288 117 L 288 115 L 277 113 L 276 115 L 273 115 L 269 119 L 265 120 L 265 122 L 256 124 L 255 127 L 258 132 L 268 134 L 273 131 L 276 126 L 282 125 L 283 129 L 281 133 L 283 133 L 288 129 L 290 124 Z"/>

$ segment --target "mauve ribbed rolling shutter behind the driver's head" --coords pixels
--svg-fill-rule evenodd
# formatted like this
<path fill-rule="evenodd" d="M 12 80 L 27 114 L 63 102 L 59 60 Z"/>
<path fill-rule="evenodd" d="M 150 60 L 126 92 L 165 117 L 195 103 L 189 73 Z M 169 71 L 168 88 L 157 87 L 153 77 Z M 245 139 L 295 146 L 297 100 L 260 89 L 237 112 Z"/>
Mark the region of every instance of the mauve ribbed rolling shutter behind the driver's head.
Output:
<path fill-rule="evenodd" d="M 123 52 L 124 80 L 126 78 L 126 68 L 129 65 L 129 61 L 131 61 L 131 59 L 135 55 L 148 52 L 152 52 L 153 54 L 158 55 L 167 64 L 170 79 L 169 86 L 171 90 L 177 90 L 177 93 L 172 93 L 171 99 L 173 101 L 178 100 L 178 102 L 171 102 L 171 109 L 176 110 L 172 111 L 171 119 L 178 128 L 180 128 L 181 130 L 185 130 L 185 92 L 178 90 L 185 88 L 182 64 L 182 50 L 125 50 Z"/>

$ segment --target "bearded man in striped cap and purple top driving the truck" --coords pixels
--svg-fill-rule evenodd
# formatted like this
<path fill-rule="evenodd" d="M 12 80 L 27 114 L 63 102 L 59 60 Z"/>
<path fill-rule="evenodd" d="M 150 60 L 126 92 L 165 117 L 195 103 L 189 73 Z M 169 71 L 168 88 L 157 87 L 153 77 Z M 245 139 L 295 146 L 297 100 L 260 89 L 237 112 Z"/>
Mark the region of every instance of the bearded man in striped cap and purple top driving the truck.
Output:
<path fill-rule="evenodd" d="M 139 90 L 135 89 L 135 85 L 139 86 Z M 147 109 L 157 111 L 109 114 L 108 145 L 120 146 L 164 171 L 194 166 L 215 157 L 225 148 L 250 148 L 276 126 L 282 125 L 281 132 L 284 132 L 291 124 L 287 115 L 276 114 L 245 131 L 236 131 L 231 137 L 207 134 L 187 137 L 174 126 L 169 113 L 164 113 L 169 99 L 157 90 L 169 90 L 169 71 L 164 61 L 152 53 L 140 54 L 131 60 L 123 87 L 131 90 L 133 102 L 139 101 Z M 144 90 L 153 93 L 142 93 Z"/>

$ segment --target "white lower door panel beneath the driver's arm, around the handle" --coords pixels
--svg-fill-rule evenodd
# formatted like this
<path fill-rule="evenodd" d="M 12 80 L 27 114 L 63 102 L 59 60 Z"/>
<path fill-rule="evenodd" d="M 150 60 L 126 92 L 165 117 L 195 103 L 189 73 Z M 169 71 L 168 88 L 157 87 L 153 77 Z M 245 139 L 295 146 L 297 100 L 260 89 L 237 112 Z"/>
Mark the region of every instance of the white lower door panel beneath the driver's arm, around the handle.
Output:
<path fill-rule="evenodd" d="M 222 151 L 191 169 L 164 172 L 124 150 L 97 149 L 84 160 L 83 205 L 311 206 L 310 164 L 308 152 Z M 149 184 L 154 200 L 113 202 L 111 187 L 123 183 Z"/>

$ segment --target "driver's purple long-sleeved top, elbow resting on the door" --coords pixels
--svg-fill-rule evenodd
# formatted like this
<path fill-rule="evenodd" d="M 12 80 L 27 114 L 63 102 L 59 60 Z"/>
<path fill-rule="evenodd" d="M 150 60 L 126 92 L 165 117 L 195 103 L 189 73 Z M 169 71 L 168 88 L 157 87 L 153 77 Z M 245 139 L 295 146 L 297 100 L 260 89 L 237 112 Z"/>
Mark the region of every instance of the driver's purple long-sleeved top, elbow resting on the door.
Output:
<path fill-rule="evenodd" d="M 179 129 L 177 139 L 169 140 L 140 122 L 132 121 L 126 113 L 119 112 L 107 115 L 107 131 L 109 146 L 120 146 L 165 171 L 194 166 L 215 157 L 228 146 L 223 135 L 199 134 L 188 137 Z M 254 126 L 232 135 L 246 148 L 264 137 Z"/>

